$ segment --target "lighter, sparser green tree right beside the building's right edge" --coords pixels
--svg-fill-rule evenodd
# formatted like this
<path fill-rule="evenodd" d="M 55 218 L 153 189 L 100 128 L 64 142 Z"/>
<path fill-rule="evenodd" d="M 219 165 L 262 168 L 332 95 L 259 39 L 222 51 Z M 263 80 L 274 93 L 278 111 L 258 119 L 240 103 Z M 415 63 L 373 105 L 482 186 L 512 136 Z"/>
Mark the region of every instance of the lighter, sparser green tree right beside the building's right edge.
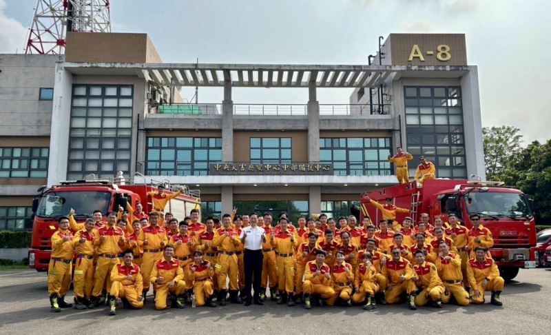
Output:
<path fill-rule="evenodd" d="M 484 127 L 482 134 L 486 179 L 501 180 L 509 161 L 521 150 L 522 135 L 519 128 L 510 125 Z"/>

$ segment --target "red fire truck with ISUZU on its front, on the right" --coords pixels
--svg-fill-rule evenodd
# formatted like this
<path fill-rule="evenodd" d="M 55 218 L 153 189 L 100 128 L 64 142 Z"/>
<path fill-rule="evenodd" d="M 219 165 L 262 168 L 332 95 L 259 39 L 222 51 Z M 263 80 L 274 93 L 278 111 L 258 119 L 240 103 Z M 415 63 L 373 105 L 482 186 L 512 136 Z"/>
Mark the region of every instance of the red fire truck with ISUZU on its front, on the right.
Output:
<path fill-rule="evenodd" d="M 482 224 L 492 232 L 494 246 L 490 254 L 495 259 L 501 276 L 510 281 L 521 267 L 536 267 L 538 252 L 533 206 L 526 194 L 500 182 L 434 179 L 425 181 L 423 187 L 416 183 L 393 185 L 362 194 L 360 219 L 366 214 L 373 223 L 382 219 L 381 213 L 366 198 L 384 204 L 390 198 L 394 205 L 410 210 L 409 214 L 397 213 L 402 222 L 411 216 L 419 221 L 421 213 L 431 219 L 455 213 L 468 228 L 472 227 L 470 214 L 479 214 Z"/>

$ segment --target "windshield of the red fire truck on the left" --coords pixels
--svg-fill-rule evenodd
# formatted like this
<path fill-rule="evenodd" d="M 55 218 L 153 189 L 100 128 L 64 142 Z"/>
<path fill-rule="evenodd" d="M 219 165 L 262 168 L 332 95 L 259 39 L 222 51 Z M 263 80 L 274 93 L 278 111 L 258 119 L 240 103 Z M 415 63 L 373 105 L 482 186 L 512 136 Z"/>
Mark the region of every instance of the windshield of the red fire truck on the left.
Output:
<path fill-rule="evenodd" d="M 69 214 L 71 208 L 76 216 L 92 216 L 94 210 L 107 214 L 110 192 L 50 192 L 42 197 L 37 216 L 45 218 Z"/>

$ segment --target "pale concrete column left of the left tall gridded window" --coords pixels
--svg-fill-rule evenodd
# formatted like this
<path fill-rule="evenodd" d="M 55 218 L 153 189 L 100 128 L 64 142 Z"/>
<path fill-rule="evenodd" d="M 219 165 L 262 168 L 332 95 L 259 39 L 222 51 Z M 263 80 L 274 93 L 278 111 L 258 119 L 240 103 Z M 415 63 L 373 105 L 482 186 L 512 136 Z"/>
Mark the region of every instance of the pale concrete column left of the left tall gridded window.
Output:
<path fill-rule="evenodd" d="M 48 186 L 67 179 L 72 85 L 72 74 L 65 70 L 62 63 L 56 63 L 50 157 L 48 159 Z"/>

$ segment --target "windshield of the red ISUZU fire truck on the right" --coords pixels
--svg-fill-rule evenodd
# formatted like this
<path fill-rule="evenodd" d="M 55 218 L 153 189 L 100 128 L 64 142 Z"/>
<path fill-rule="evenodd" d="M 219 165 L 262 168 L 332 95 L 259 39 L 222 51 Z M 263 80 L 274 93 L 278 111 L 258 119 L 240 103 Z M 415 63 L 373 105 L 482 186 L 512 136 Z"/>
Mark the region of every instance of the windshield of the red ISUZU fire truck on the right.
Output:
<path fill-rule="evenodd" d="M 526 197 L 518 193 L 471 192 L 465 201 L 469 214 L 519 218 L 532 216 Z"/>

